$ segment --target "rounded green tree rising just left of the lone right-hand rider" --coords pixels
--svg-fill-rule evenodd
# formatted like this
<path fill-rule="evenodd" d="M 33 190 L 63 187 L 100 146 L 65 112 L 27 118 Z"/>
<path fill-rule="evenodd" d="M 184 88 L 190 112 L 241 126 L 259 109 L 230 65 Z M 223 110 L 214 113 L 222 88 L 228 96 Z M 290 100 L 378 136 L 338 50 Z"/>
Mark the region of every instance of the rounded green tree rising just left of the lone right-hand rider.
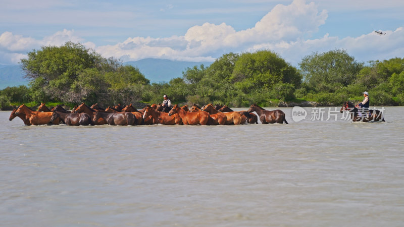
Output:
<path fill-rule="evenodd" d="M 319 91 L 326 92 L 333 92 L 354 82 L 363 65 L 343 49 L 314 52 L 299 63 L 305 81 Z"/>

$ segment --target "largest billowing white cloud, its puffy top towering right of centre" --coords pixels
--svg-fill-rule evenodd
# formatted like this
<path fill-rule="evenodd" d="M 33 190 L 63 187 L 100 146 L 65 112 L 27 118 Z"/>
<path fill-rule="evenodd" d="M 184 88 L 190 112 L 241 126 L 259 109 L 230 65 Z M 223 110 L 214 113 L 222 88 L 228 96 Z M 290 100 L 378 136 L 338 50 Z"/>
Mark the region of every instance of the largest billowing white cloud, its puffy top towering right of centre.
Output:
<path fill-rule="evenodd" d="M 223 54 L 226 50 L 248 49 L 268 40 L 296 40 L 307 33 L 317 32 L 326 19 L 327 12 L 319 12 L 314 3 L 306 4 L 304 0 L 295 0 L 288 6 L 277 5 L 250 29 L 237 32 L 225 23 L 204 23 L 189 28 L 184 36 L 134 37 L 116 45 L 99 46 L 96 50 L 104 56 L 113 55 L 127 60 L 201 59 L 200 56 L 214 59 L 218 57 L 214 54 Z M 166 45 L 162 45 L 163 43 Z"/>

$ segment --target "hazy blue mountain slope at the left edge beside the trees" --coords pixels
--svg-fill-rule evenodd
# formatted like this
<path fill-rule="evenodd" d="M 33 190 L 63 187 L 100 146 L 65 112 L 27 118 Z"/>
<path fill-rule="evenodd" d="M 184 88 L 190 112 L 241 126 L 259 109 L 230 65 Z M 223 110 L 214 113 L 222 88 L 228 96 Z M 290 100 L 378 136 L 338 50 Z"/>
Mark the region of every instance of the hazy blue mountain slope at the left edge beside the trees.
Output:
<path fill-rule="evenodd" d="M 19 65 L 0 65 L 0 89 L 19 85 L 28 85 L 23 77 L 24 71 Z"/>

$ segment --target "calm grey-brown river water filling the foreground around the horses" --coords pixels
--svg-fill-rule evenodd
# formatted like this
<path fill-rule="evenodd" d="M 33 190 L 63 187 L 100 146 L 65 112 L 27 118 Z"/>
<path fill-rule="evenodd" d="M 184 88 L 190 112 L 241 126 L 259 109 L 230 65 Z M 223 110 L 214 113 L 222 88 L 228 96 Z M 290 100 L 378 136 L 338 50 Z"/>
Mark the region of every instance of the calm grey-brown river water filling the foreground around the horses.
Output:
<path fill-rule="evenodd" d="M 289 125 L 24 126 L 1 111 L 2 225 L 403 225 L 404 107 L 386 123 L 280 109 Z"/>

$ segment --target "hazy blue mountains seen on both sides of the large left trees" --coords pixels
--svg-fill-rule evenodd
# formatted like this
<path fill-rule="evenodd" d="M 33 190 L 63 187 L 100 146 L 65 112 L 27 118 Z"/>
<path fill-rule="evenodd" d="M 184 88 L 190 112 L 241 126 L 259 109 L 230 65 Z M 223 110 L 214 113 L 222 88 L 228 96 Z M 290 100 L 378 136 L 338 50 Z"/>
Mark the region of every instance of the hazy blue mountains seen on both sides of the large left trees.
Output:
<path fill-rule="evenodd" d="M 123 65 L 137 67 L 150 80 L 150 83 L 169 82 L 173 78 L 182 77 L 186 68 L 203 64 L 208 67 L 212 62 L 181 62 L 164 59 L 143 59 L 135 62 L 124 62 Z M 8 86 L 28 85 L 23 78 L 24 71 L 19 65 L 0 65 L 0 89 Z"/>

